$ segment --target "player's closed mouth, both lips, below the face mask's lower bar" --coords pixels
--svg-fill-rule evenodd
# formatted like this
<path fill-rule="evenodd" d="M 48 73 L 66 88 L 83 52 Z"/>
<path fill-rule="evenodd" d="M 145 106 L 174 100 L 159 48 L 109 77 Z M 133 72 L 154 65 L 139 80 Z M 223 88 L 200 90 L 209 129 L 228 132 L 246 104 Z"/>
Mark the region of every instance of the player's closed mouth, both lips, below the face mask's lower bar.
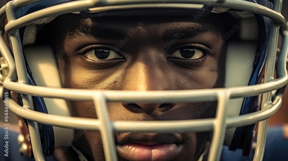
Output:
<path fill-rule="evenodd" d="M 116 142 L 119 156 L 128 160 L 172 160 L 183 150 L 182 138 L 178 133 L 125 133 Z"/>

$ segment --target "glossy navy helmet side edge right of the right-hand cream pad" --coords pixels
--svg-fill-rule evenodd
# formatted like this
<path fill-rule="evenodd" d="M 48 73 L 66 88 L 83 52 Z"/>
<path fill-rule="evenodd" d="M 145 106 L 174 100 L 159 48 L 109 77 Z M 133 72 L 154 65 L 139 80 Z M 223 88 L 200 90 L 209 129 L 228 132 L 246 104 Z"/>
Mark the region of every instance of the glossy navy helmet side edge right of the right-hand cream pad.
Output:
<path fill-rule="evenodd" d="M 250 53 L 248 55 L 249 57 L 245 57 L 246 62 L 242 62 L 243 68 L 245 70 L 249 69 L 247 73 L 251 73 L 250 74 L 251 77 L 247 79 L 249 80 L 249 82 L 245 82 L 247 83 L 247 85 L 258 84 L 259 79 L 261 77 L 261 72 L 262 72 L 262 69 L 266 60 L 266 56 L 267 56 L 267 46 L 265 47 L 263 44 L 266 45 L 268 42 L 270 42 L 270 39 L 272 39 L 272 38 L 269 39 L 268 37 L 266 37 L 266 35 L 269 35 L 270 33 L 271 20 L 260 15 L 255 15 L 255 18 L 257 19 L 258 28 L 259 28 L 259 40 L 257 42 L 258 45 L 254 44 L 256 48 L 249 49 L 250 50 Z M 227 62 L 229 62 L 229 60 L 227 60 Z M 239 69 L 236 69 L 234 71 L 238 72 Z M 239 73 L 238 75 L 242 76 Z M 259 106 L 261 106 L 261 104 L 258 101 L 259 97 L 260 96 L 244 98 L 241 108 L 238 108 L 240 109 L 240 111 L 237 111 L 238 115 L 257 111 Z M 233 107 L 233 105 L 231 105 L 231 107 Z M 234 129 L 232 129 L 232 131 L 234 132 L 234 134 L 232 135 L 233 138 L 231 139 L 230 137 L 231 139 L 230 144 L 227 144 L 230 146 L 229 150 L 236 150 L 240 148 L 240 149 L 243 149 L 243 155 L 249 155 L 251 152 L 252 141 L 255 136 L 254 129 L 255 129 L 255 124 L 245 126 L 245 127 L 235 127 Z"/>

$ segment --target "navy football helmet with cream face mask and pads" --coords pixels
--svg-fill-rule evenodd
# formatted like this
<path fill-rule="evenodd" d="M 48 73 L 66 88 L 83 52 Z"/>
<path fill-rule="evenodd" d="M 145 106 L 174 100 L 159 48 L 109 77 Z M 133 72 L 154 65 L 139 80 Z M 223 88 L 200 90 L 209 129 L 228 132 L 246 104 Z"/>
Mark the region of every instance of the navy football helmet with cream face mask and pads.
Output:
<path fill-rule="evenodd" d="M 20 151 L 36 160 L 53 154 L 54 148 L 69 142 L 73 129 L 86 127 L 100 131 L 105 160 L 117 160 L 113 132 L 130 131 L 137 121 L 108 119 L 106 102 L 200 102 L 217 100 L 215 118 L 175 121 L 145 121 L 137 132 L 213 131 L 209 161 L 219 160 L 223 145 L 230 150 L 251 152 L 255 123 L 259 122 L 254 160 L 262 160 L 267 120 L 281 106 L 288 83 L 288 23 L 281 15 L 282 0 L 15 0 L 0 9 L 1 99 L 10 91 L 9 109 L 27 120 L 20 125 Z M 149 10 L 147 10 L 149 9 Z M 229 40 L 225 88 L 167 91 L 95 91 L 61 87 L 49 46 L 36 46 L 33 28 L 41 29 L 58 15 L 73 13 L 83 17 L 129 14 L 173 14 L 189 12 L 194 18 L 228 12 L 241 23 L 240 40 Z M 173 11 L 173 12 L 172 12 Z M 7 24 L 5 24 L 7 18 Z M 281 27 L 280 27 L 281 26 Z M 5 29 L 5 30 L 4 30 Z M 277 54 L 279 30 L 283 37 Z M 9 34 L 8 43 L 3 35 Z M 251 43 L 253 42 L 253 43 Z M 27 46 L 29 45 L 29 46 Z M 217 46 L 215 46 L 217 47 Z M 41 54 L 39 54 L 41 53 Z M 277 59 L 276 59 L 277 57 Z M 247 68 L 252 66 L 253 68 Z M 277 76 L 274 78 L 274 71 Z M 265 72 L 264 78 L 261 73 Z M 238 76 L 234 74 L 237 73 Z M 272 93 L 276 91 L 276 93 Z M 256 97 L 257 96 L 257 97 Z M 258 100 L 259 99 L 259 100 Z M 71 117 L 65 100 L 94 101 L 98 119 Z M 7 102 L 7 100 L 6 100 Z M 5 102 L 5 103 L 6 103 Z M 257 102 L 255 104 L 255 102 Z M 241 122 L 239 126 L 235 126 Z M 28 129 L 26 129 L 26 126 Z M 228 129 L 233 135 L 223 139 Z M 23 132 L 24 131 L 24 132 Z M 27 137 L 28 136 L 28 139 Z M 31 141 L 31 145 L 29 142 Z M 27 148 L 27 143 L 29 143 Z M 33 152 L 31 150 L 31 147 Z"/>

